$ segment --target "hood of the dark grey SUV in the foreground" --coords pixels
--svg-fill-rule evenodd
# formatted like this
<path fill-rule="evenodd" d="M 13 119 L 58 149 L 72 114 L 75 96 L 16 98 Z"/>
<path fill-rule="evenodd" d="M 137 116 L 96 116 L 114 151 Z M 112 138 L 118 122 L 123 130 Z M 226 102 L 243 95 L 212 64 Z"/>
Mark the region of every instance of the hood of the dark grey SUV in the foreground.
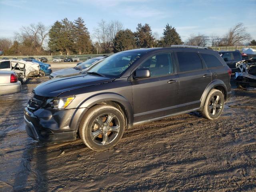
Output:
<path fill-rule="evenodd" d="M 32 92 L 39 96 L 57 97 L 63 92 L 111 82 L 112 80 L 114 79 L 87 74 L 66 78 L 56 78 L 40 83 Z"/>

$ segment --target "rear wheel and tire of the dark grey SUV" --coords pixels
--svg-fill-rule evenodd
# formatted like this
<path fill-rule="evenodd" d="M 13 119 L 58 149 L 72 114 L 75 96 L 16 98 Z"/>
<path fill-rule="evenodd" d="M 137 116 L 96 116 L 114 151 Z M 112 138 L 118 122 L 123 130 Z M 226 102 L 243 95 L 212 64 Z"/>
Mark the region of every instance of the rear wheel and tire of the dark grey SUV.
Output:
<path fill-rule="evenodd" d="M 201 111 L 202 116 L 210 120 L 217 119 L 222 114 L 224 102 L 224 96 L 220 90 L 211 90 Z"/>

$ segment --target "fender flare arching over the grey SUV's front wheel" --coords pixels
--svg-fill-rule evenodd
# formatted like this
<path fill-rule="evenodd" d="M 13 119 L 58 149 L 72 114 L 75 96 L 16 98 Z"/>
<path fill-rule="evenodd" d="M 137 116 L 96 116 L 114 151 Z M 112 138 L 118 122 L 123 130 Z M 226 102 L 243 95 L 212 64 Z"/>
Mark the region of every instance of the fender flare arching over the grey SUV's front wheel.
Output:
<path fill-rule="evenodd" d="M 128 125 L 132 125 L 134 121 L 133 116 L 133 108 L 130 102 L 124 98 L 123 96 L 116 94 L 116 93 L 100 93 L 96 95 L 92 95 L 89 98 L 86 98 L 83 102 L 81 102 L 80 106 L 78 106 L 75 114 L 72 117 L 72 122 L 70 124 L 71 127 L 74 127 L 76 130 L 78 130 L 80 121 L 82 120 L 84 114 L 87 112 L 89 108 L 94 106 L 97 103 L 100 102 L 118 102 L 118 104 L 121 105 L 122 110 L 125 110 L 125 115 L 127 116 L 127 123 Z"/>

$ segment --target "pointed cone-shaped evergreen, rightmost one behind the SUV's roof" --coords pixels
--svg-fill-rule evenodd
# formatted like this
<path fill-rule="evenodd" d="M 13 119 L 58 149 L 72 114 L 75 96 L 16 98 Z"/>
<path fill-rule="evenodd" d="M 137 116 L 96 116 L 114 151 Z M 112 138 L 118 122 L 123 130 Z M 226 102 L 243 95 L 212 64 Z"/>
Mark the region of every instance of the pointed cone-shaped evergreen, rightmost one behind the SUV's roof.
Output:
<path fill-rule="evenodd" d="M 180 35 L 176 32 L 176 29 L 172 26 L 169 26 L 167 24 L 165 26 L 164 32 L 163 32 L 163 38 L 162 38 L 162 45 L 179 45 L 183 44 Z"/>

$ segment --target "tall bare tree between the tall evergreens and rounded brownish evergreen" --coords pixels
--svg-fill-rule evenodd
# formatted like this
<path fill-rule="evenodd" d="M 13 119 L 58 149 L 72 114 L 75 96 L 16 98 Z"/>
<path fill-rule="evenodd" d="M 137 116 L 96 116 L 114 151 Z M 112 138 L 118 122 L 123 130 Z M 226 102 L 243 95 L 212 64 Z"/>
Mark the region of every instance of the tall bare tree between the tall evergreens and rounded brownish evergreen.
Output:
<path fill-rule="evenodd" d="M 110 21 L 107 23 L 105 20 L 98 22 L 98 27 L 94 29 L 94 37 L 97 42 L 102 45 L 106 53 L 112 51 L 114 38 L 118 31 L 123 28 L 123 24 L 119 21 Z"/>

